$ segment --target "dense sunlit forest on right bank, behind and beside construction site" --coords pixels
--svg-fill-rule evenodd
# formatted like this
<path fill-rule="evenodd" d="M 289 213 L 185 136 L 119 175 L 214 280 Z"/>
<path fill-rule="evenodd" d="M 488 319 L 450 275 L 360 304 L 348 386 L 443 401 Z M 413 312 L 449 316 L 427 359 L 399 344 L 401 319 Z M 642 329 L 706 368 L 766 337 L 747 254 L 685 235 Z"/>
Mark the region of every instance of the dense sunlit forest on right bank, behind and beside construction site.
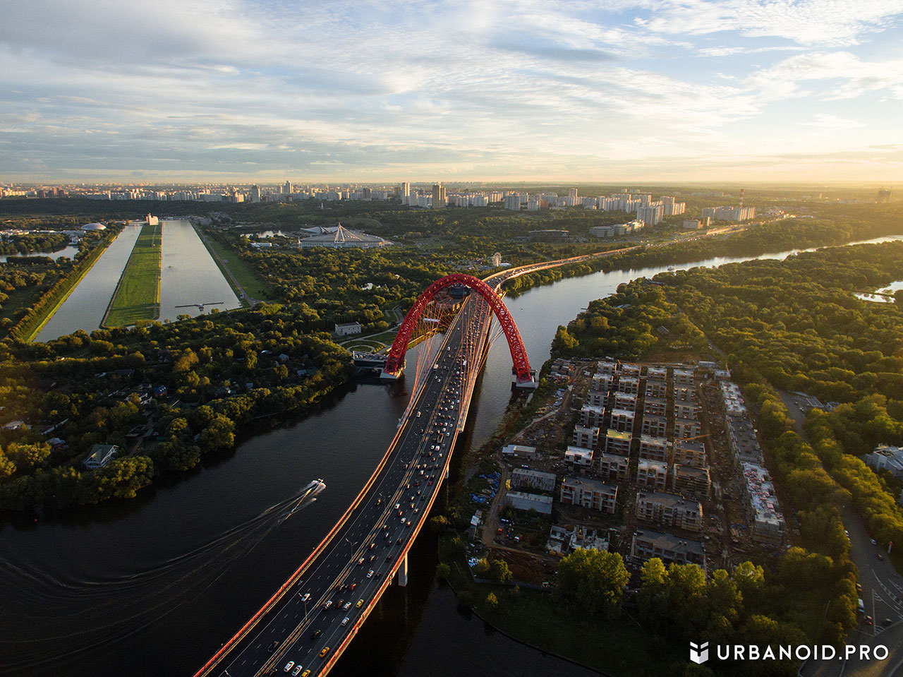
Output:
<path fill-rule="evenodd" d="M 898 483 L 859 457 L 879 443 L 903 444 L 903 313 L 896 303 L 856 296 L 898 279 L 901 262 L 903 243 L 890 242 L 637 279 L 592 302 L 555 336 L 555 355 L 636 359 L 680 348 L 730 365 L 799 531 L 800 547 L 766 571 L 777 594 L 759 607 L 759 644 L 796 633 L 838 643 L 854 625 L 855 569 L 840 506 L 855 507 L 881 543 L 903 539 Z M 801 434 L 778 390 L 837 404 L 813 409 Z M 647 575 L 644 569 L 644 583 Z M 672 634 L 686 636 L 692 615 L 675 608 L 666 616 Z M 696 629 L 720 640 L 727 627 Z M 729 635 L 740 633 L 733 635 L 740 641 L 742 630 L 733 627 Z"/>

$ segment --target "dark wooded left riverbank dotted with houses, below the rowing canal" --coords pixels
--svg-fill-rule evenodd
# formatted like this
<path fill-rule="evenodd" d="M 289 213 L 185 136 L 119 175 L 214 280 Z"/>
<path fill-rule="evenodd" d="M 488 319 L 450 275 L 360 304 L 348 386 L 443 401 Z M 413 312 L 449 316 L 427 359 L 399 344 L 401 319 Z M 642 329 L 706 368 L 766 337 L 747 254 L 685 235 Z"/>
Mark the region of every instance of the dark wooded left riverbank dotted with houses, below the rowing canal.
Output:
<path fill-rule="evenodd" d="M 297 311 L 260 305 L 50 343 L 0 343 L 5 418 L 30 423 L 0 430 L 0 509 L 132 496 L 155 476 L 233 447 L 256 418 L 321 400 L 353 368 L 328 334 L 304 333 Z M 51 427 L 64 444 L 46 441 L 42 429 Z M 138 441 L 130 431 L 151 435 L 139 456 L 129 456 Z M 85 470 L 94 444 L 115 444 L 122 454 Z"/>

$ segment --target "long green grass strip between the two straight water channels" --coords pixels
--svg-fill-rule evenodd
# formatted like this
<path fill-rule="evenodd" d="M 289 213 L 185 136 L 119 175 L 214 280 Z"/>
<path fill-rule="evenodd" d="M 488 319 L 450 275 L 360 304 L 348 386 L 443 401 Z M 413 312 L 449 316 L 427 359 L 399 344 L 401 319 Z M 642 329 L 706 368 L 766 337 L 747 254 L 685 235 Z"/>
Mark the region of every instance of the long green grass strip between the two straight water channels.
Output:
<path fill-rule="evenodd" d="M 161 240 L 159 225 L 145 225 L 141 229 L 107 307 L 103 326 L 128 326 L 160 316 Z"/>

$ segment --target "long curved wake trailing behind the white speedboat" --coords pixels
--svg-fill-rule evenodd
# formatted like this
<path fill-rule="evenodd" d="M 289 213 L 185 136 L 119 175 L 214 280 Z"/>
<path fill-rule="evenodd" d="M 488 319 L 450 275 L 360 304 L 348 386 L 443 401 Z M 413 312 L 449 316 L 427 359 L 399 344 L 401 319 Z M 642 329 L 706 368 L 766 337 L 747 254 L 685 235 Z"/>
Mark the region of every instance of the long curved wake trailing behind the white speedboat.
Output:
<path fill-rule="evenodd" d="M 114 577 L 75 578 L 0 557 L 0 674 L 31 672 L 146 632 L 198 597 L 325 486 L 314 480 L 194 550 Z"/>

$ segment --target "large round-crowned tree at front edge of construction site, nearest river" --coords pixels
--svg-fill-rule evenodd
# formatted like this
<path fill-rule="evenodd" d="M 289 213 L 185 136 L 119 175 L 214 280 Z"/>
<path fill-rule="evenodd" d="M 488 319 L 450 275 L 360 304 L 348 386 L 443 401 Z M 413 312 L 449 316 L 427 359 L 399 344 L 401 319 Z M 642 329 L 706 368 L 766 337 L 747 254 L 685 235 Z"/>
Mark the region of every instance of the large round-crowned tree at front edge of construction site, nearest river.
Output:
<path fill-rule="evenodd" d="M 574 550 L 558 567 L 557 592 L 584 611 L 615 618 L 630 574 L 616 552 Z"/>

